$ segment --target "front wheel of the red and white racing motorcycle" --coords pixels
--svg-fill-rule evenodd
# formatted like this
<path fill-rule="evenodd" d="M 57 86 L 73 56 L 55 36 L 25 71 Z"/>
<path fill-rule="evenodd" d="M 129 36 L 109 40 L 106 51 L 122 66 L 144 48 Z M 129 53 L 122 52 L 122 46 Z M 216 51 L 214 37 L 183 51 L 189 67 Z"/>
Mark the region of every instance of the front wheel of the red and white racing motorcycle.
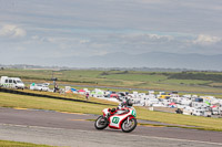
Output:
<path fill-rule="evenodd" d="M 130 133 L 137 127 L 137 125 L 138 125 L 138 122 L 135 118 L 131 118 L 129 122 L 128 119 L 125 119 L 122 123 L 122 132 Z"/>

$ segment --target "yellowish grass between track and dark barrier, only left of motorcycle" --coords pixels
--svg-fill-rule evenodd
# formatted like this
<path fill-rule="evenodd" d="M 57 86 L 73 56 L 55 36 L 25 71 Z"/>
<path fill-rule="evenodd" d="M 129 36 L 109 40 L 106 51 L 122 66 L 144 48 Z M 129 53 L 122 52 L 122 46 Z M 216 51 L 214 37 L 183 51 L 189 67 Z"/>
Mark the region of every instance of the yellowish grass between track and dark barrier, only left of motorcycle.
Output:
<path fill-rule="evenodd" d="M 49 109 L 49 111 L 85 113 L 85 114 L 101 114 L 101 111 L 103 108 L 113 107 L 113 105 L 70 102 L 70 101 L 52 99 L 46 97 L 8 94 L 1 92 L 0 92 L 0 97 L 1 97 L 0 98 L 1 107 L 37 108 L 37 109 Z"/>

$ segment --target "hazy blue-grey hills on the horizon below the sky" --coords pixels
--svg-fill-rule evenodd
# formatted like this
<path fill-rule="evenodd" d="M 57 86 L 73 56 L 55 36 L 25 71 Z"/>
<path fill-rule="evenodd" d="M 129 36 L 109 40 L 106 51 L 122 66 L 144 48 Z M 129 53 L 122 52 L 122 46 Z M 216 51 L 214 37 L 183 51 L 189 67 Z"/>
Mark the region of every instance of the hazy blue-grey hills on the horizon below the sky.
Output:
<path fill-rule="evenodd" d="M 222 71 L 222 54 L 176 54 L 164 52 L 151 52 L 143 54 L 110 53 L 90 57 L 21 57 L 23 64 L 57 65 L 69 67 L 160 67 L 160 69 L 190 69 Z"/>

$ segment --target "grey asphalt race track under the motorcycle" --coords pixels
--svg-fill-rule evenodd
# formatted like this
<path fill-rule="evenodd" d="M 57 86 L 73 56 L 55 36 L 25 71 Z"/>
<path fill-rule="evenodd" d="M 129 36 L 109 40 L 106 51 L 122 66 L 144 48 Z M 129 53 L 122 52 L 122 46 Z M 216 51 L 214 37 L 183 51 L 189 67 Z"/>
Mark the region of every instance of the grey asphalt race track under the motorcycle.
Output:
<path fill-rule="evenodd" d="M 0 139 L 73 147 L 221 147 L 222 133 L 138 126 L 97 130 L 95 115 L 0 107 Z M 139 120 L 141 122 L 141 120 Z"/>

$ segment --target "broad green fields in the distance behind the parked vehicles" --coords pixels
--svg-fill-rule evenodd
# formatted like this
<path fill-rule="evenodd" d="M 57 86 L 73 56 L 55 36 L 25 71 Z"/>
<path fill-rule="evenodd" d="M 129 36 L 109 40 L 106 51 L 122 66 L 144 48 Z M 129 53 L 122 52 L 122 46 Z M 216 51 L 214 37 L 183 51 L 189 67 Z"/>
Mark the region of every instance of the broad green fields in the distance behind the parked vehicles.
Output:
<path fill-rule="evenodd" d="M 51 82 L 51 77 L 58 77 L 58 84 L 78 84 L 94 86 L 113 86 L 127 88 L 147 88 L 154 91 L 186 91 L 198 93 L 221 93 L 222 82 L 211 76 L 221 76 L 222 73 L 191 72 L 162 73 L 162 72 L 134 72 L 134 71 L 52 71 L 52 70 L 3 70 L 0 76 L 19 76 L 24 82 Z M 180 75 L 181 74 L 181 75 Z M 205 76 L 205 78 L 199 78 Z M 180 76 L 181 78 L 179 78 Z M 192 75 L 189 80 L 188 75 Z M 210 76 L 208 76 L 210 75 Z M 185 76 L 185 78 L 184 78 Z M 193 77 L 194 76 L 194 77 Z M 198 80 L 193 80 L 198 78 Z M 221 96 L 222 97 L 222 96 Z"/>

